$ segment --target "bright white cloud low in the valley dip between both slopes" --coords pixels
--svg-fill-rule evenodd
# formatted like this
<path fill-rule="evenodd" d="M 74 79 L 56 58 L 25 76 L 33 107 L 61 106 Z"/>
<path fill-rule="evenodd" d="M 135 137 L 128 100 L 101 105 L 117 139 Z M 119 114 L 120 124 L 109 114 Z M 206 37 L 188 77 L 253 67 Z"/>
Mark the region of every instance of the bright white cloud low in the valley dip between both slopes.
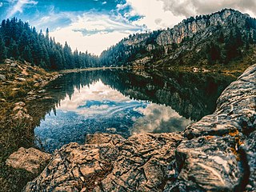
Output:
<path fill-rule="evenodd" d="M 50 36 L 62 44 L 68 42 L 73 50 L 78 48 L 79 51 L 88 50 L 98 55 L 122 38 L 143 28 L 107 14 L 87 13 L 69 18 L 72 20 L 69 26 L 50 32 Z"/>

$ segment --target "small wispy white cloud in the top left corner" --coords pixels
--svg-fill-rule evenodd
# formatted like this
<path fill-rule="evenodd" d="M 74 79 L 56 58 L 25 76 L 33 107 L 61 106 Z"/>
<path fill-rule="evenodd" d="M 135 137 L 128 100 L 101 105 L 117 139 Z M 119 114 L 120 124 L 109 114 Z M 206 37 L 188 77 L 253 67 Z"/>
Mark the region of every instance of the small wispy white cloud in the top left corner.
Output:
<path fill-rule="evenodd" d="M 16 13 L 22 13 L 23 9 L 27 5 L 36 5 L 38 2 L 35 2 L 33 0 L 18 0 L 18 1 L 10 1 L 10 3 L 14 4 L 13 6 L 10 6 L 10 9 L 7 11 L 7 17 L 11 18 Z"/>

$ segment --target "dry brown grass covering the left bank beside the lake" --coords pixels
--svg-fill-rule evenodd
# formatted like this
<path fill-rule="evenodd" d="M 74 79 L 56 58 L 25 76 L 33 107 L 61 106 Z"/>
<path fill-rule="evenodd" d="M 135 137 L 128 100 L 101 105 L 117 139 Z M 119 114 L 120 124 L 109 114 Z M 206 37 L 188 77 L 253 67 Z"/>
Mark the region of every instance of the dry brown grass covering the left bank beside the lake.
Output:
<path fill-rule="evenodd" d="M 15 62 L 17 66 L 0 64 L 0 74 L 6 75 L 6 80 L 0 80 L 0 191 L 21 191 L 27 182 L 36 175 L 26 170 L 15 170 L 6 166 L 6 158 L 19 147 L 34 146 L 34 125 L 30 118 L 17 118 L 13 111 L 14 103 L 26 102 L 30 90 L 42 89 L 57 73 L 47 73 L 35 66 Z M 20 81 L 17 78 L 25 78 Z M 39 83 L 38 79 L 40 80 Z M 27 105 L 26 105 L 27 106 Z M 38 119 L 37 119 L 38 120 Z"/>

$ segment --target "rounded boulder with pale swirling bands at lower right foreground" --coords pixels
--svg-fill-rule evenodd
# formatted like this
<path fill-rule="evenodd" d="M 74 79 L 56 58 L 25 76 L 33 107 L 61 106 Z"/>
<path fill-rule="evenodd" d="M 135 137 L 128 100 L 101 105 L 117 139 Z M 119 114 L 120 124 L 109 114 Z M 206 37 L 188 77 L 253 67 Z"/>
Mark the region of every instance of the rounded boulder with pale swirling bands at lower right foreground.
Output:
<path fill-rule="evenodd" d="M 242 170 L 230 136 L 202 136 L 182 141 L 176 151 L 178 180 L 166 191 L 224 191 L 239 186 Z"/>

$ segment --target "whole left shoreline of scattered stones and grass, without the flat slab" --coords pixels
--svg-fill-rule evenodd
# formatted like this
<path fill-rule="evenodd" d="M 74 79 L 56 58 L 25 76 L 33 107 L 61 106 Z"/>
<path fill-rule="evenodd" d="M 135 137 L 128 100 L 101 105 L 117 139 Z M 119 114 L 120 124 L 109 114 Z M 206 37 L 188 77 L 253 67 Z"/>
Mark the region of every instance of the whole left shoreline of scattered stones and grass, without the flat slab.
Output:
<path fill-rule="evenodd" d="M 37 175 L 6 166 L 6 158 L 21 146 L 34 146 L 34 126 L 40 121 L 34 109 L 52 100 L 44 86 L 58 77 L 25 61 L 0 63 L 0 191 L 20 191 Z"/>

